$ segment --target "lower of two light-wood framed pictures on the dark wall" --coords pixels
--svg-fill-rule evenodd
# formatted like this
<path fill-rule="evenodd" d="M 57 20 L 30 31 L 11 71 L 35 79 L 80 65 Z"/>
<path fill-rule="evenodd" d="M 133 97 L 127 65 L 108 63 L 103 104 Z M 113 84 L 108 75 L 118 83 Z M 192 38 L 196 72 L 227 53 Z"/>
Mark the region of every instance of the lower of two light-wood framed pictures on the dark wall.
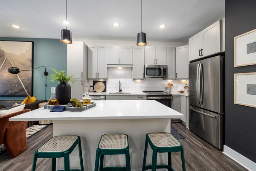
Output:
<path fill-rule="evenodd" d="M 234 104 L 256 107 L 256 72 L 234 74 Z"/>

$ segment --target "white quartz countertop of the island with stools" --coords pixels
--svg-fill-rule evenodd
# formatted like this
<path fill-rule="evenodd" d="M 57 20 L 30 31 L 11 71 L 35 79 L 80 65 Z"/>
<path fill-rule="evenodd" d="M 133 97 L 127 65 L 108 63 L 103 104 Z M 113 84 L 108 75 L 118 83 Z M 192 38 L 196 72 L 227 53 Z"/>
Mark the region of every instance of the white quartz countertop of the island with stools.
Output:
<path fill-rule="evenodd" d="M 9 121 L 87 120 L 87 119 L 151 119 L 180 118 L 183 114 L 155 100 L 95 101 L 96 107 L 83 112 L 50 112 L 39 108 L 14 116 Z"/>

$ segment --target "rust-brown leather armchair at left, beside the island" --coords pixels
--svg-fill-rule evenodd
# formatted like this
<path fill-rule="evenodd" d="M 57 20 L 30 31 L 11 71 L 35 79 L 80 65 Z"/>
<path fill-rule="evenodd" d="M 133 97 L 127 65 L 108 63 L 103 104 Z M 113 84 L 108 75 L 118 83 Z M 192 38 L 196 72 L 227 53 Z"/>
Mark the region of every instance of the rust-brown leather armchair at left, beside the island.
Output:
<path fill-rule="evenodd" d="M 29 111 L 30 109 L 25 109 L 0 116 L 0 144 L 5 145 L 11 157 L 16 157 L 28 148 L 26 138 L 27 121 L 9 121 L 9 118 Z"/>

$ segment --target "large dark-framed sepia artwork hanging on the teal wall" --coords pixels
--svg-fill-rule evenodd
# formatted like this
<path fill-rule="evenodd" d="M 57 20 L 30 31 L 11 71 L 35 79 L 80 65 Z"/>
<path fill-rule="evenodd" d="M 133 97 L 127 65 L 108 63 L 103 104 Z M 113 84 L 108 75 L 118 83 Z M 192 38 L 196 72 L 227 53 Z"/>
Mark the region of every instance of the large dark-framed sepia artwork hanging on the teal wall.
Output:
<path fill-rule="evenodd" d="M 9 67 L 17 67 L 19 74 L 10 74 Z M 0 96 L 33 95 L 32 41 L 0 41 Z"/>

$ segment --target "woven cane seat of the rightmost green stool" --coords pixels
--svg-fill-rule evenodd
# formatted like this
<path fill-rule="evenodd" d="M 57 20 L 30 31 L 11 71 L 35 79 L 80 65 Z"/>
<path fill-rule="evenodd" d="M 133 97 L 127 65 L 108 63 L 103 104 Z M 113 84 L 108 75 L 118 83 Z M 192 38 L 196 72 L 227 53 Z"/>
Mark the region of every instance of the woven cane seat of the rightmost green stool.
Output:
<path fill-rule="evenodd" d="M 170 133 L 148 133 L 148 137 L 156 147 L 180 146 L 180 142 Z"/>

